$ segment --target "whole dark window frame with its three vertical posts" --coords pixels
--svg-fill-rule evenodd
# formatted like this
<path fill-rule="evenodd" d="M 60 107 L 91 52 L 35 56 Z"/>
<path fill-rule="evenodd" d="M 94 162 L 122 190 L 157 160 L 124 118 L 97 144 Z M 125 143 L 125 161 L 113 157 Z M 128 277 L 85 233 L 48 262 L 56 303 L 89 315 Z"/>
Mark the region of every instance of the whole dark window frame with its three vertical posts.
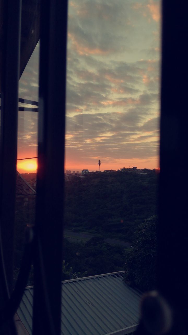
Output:
<path fill-rule="evenodd" d="M 9 67 L 4 67 L 2 78 L 2 113 L 0 141 L 1 171 L 1 234 L 7 238 L 5 222 L 11 224 L 13 231 L 13 208 L 15 203 L 16 176 L 16 132 L 18 103 L 18 58 L 20 0 L 7 0 L 4 8 L 4 43 L 7 46 L 4 63 L 12 63 L 15 81 L 10 83 Z M 161 87 L 161 140 L 160 140 L 160 182 L 159 182 L 159 224 L 158 224 L 158 289 L 168 301 L 179 309 L 181 322 L 186 321 L 188 312 L 187 256 L 187 175 L 184 157 L 187 150 L 188 114 L 185 113 L 187 96 L 187 8 L 183 1 L 163 1 L 162 23 L 162 87 Z M 16 8 L 16 11 L 15 11 Z M 40 79 L 39 79 L 39 151 L 37 176 L 37 213 L 35 236 L 35 293 L 33 310 L 33 334 L 60 334 L 61 332 L 61 279 L 62 260 L 62 208 L 64 157 L 59 161 L 59 150 L 64 153 L 65 135 L 65 78 L 67 43 L 67 1 L 41 0 L 40 31 Z M 14 15 L 13 15 L 14 14 Z M 8 24 L 10 15 L 12 22 Z M 14 27 L 14 28 L 13 28 Z M 10 34 L 10 35 L 9 35 Z M 13 41 L 12 37 L 16 36 Z M 11 41 L 11 43 L 10 43 Z M 9 42 L 8 44 L 6 44 Z M 15 43 L 15 44 L 14 44 Z M 12 48 L 16 53 L 11 55 Z M 15 56 L 16 55 L 16 56 Z M 8 64 L 10 65 L 10 63 Z M 176 65 L 174 67 L 174 65 Z M 12 76 L 12 74 L 11 74 Z M 63 80 L 62 77 L 63 76 Z M 11 78 L 12 79 L 12 78 Z M 61 81 L 62 80 L 62 81 Z M 63 89 L 63 95 L 62 95 Z M 14 104 L 14 107 L 10 105 Z M 63 105 L 63 108 L 62 108 Z M 62 111 L 60 115 L 59 111 Z M 44 113 L 45 111 L 45 113 Z M 12 113 L 11 122 L 6 117 Z M 10 120 L 9 120 L 10 121 Z M 12 128 L 11 128 L 12 127 Z M 56 131 L 55 131 L 56 130 Z M 63 134 L 62 134 L 63 130 Z M 11 131 L 11 136 L 10 135 Z M 5 136 L 6 135 L 6 136 Z M 62 136 L 63 135 L 63 136 Z M 63 137 L 63 140 L 62 140 Z M 58 143 L 58 145 L 57 145 Z M 59 143 L 60 146 L 59 146 Z M 12 147 L 13 145 L 13 147 Z M 11 148 L 10 148 L 11 146 Z M 10 150 L 11 149 L 11 150 Z M 9 151 L 10 150 L 10 151 Z M 10 155 L 11 152 L 11 155 Z M 8 154 L 9 153 L 9 154 Z M 64 155 L 62 155 L 64 156 Z M 58 166 L 55 167 L 58 159 Z M 3 177 L 3 178 L 2 178 Z M 10 187 L 5 189 L 5 181 Z M 11 191 L 10 191 L 11 189 Z M 51 196 L 49 196 L 51 194 Z M 11 197 L 11 198 L 10 198 Z M 11 203 L 6 211 L 7 199 Z M 11 199 L 11 200 L 10 200 Z M 55 212 L 55 233 L 51 223 Z M 58 224 L 59 222 L 59 224 Z M 60 224 L 61 222 L 61 224 Z M 54 228 L 54 226 L 53 226 Z M 10 231 L 9 231 L 10 234 Z M 10 237 L 10 235 L 9 235 Z M 13 233 L 11 235 L 11 241 Z M 8 239 L 7 239 L 8 240 Z M 58 241 L 58 243 L 57 243 Z M 48 248 L 51 248 L 51 253 Z M 12 242 L 4 249 L 4 263 L 11 288 Z M 50 249 L 49 248 L 49 249 Z M 48 252 L 45 252 L 48 250 Z M 38 257 L 38 252 L 41 257 Z M 5 256 L 6 255 L 6 256 Z M 54 260 L 57 261 L 57 266 Z M 1 264 L 1 269 L 3 264 Z M 53 269 L 53 274 L 49 269 Z M 4 282 L 5 283 L 5 282 Z M 43 286 L 41 290 L 41 285 Z M 1 280 L 1 292 L 3 292 Z M 5 291 L 4 302 L 9 297 Z M 59 297 L 58 297 L 59 294 Z M 2 306 L 1 306 L 2 307 Z M 40 311 L 40 314 L 39 314 Z M 52 322 L 50 322 L 52 320 Z M 7 324 L 7 327 L 8 324 Z M 188 326 L 184 325 L 187 328 Z M 7 328 L 8 329 L 8 328 Z M 11 334 L 13 330 L 9 330 Z M 140 331 L 140 334 L 142 332 Z"/>

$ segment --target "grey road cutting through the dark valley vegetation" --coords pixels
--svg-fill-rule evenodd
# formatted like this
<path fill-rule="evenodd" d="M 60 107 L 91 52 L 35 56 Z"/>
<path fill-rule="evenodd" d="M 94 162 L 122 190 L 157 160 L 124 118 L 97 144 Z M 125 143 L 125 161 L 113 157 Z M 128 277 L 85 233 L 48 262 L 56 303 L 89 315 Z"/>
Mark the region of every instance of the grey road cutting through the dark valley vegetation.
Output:
<path fill-rule="evenodd" d="M 77 231 L 70 231 L 70 230 L 64 230 L 64 237 L 71 242 L 77 242 L 77 241 L 89 241 L 92 237 L 100 237 L 100 235 L 93 235 L 87 232 L 77 232 Z M 117 244 L 125 248 L 130 248 L 131 243 L 126 241 L 120 241 L 115 239 L 104 239 L 104 242 L 110 243 L 110 244 Z"/>

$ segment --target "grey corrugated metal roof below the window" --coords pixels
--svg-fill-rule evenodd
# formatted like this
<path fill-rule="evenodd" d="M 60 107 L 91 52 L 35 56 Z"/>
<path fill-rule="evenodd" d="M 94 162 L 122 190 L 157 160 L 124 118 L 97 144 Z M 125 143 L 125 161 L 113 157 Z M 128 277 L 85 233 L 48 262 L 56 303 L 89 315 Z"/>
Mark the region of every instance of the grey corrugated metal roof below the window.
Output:
<path fill-rule="evenodd" d="M 127 286 L 123 272 L 62 282 L 62 335 L 127 334 L 138 323 L 141 293 Z M 25 289 L 17 314 L 32 334 L 33 286 Z M 128 331 L 128 332 L 131 332 Z"/>

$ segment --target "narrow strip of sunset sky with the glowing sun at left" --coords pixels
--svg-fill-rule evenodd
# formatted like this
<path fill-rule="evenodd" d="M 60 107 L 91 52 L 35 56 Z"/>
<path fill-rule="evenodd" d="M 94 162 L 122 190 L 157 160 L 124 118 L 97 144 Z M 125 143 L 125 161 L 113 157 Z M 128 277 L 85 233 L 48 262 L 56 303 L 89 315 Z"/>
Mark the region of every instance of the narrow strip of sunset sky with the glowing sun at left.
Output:
<path fill-rule="evenodd" d="M 36 173 L 37 168 L 37 129 L 38 129 L 38 57 L 39 43 L 36 45 L 31 58 L 19 80 L 19 107 L 25 111 L 18 112 L 18 150 L 19 160 L 17 170 L 20 173 Z"/>

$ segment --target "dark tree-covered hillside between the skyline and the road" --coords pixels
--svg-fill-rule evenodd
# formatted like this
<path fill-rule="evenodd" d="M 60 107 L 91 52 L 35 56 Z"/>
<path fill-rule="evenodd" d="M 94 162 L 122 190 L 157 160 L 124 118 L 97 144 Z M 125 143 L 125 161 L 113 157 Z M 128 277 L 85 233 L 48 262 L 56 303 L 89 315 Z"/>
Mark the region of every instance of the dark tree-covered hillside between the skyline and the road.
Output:
<path fill-rule="evenodd" d="M 65 183 L 65 229 L 132 242 L 137 226 L 157 213 L 158 175 L 146 172 L 74 176 Z"/>

